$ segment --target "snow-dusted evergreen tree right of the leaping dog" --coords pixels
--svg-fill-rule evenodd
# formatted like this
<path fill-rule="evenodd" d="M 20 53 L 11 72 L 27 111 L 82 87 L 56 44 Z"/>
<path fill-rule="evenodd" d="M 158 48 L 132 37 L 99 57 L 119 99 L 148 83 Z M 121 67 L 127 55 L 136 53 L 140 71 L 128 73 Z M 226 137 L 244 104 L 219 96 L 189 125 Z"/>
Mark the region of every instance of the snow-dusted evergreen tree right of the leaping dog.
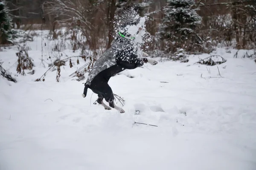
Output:
<path fill-rule="evenodd" d="M 194 5 L 194 0 L 167 0 L 163 8 L 160 36 L 163 40 L 168 40 L 169 47 L 172 44 L 169 51 L 186 49 L 195 41 L 195 29 L 201 24 L 201 17 L 196 12 L 198 8 L 192 8 Z"/>

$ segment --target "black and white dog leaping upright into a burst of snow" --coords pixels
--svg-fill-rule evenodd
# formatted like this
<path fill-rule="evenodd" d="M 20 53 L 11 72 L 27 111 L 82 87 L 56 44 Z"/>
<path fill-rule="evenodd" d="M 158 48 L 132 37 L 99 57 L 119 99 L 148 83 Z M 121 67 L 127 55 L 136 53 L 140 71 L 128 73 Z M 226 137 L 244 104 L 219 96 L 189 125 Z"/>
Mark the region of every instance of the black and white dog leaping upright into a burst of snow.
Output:
<path fill-rule="evenodd" d="M 97 102 L 104 106 L 106 110 L 114 108 L 120 113 L 125 111 L 114 104 L 114 95 L 111 87 L 108 85 L 108 80 L 117 73 L 125 69 L 135 69 L 142 66 L 144 63 L 156 65 L 157 61 L 146 58 L 139 58 L 137 48 L 134 48 L 134 35 L 128 33 L 127 26 L 138 26 L 140 18 L 134 22 L 126 23 L 119 31 L 118 35 L 111 42 L 111 48 L 105 51 L 104 54 L 96 61 L 92 71 L 88 75 L 87 81 L 84 84 L 83 97 L 87 94 L 87 89 L 90 88 L 94 93 L 98 94 Z M 142 28 L 136 32 L 141 31 Z M 142 52 L 142 51 L 141 51 Z M 148 54 L 142 52 L 143 57 L 148 57 Z M 108 107 L 103 102 L 103 99 L 109 103 Z"/>

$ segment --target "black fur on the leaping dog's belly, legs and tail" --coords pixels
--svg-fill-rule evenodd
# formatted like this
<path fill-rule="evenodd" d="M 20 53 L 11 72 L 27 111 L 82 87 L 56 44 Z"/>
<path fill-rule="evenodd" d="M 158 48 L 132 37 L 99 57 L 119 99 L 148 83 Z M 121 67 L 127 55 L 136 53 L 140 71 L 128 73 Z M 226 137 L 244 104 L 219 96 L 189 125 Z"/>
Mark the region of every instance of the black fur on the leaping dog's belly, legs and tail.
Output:
<path fill-rule="evenodd" d="M 137 22 L 133 24 L 137 24 Z M 131 45 L 128 45 L 125 49 L 117 51 L 115 56 L 116 65 L 113 65 L 97 74 L 91 81 L 90 85 L 85 84 L 83 94 L 85 97 L 87 94 L 87 88 L 90 88 L 94 93 L 98 94 L 99 98 L 97 99 L 97 102 L 104 105 L 105 109 L 110 110 L 111 108 L 115 108 L 123 113 L 124 111 L 121 108 L 114 105 L 114 95 L 111 87 L 108 85 L 108 81 L 113 75 L 120 73 L 125 69 L 135 69 L 142 66 L 144 63 L 148 62 L 148 59 L 138 58 L 137 49 L 134 49 L 132 40 L 128 40 L 121 36 L 116 37 L 115 40 L 121 43 L 125 42 L 125 44 L 130 43 Z M 103 103 L 103 99 L 109 103 L 111 108 Z"/>

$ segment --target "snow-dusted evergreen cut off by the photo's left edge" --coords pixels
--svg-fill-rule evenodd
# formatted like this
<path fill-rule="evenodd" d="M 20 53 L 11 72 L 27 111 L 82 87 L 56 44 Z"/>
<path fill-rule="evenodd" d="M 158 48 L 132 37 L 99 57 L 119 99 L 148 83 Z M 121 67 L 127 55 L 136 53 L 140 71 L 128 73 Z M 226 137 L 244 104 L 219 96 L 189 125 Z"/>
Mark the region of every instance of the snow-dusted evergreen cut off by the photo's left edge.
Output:
<path fill-rule="evenodd" d="M 9 13 L 6 1 L 0 2 L 0 44 L 12 43 L 11 40 L 11 24 L 12 18 Z"/>

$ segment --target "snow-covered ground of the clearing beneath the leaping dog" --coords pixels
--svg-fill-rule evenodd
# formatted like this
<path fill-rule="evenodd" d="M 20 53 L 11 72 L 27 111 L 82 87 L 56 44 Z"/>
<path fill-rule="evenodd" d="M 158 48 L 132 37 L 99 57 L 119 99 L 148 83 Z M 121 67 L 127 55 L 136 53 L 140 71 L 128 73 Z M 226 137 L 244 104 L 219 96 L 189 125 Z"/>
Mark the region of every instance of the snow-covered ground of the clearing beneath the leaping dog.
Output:
<path fill-rule="evenodd" d="M 44 42 L 46 68 L 40 37 L 27 43 L 32 75 L 17 74 L 15 47 L 0 52 L 17 79 L 0 77 L 0 170 L 256 170 L 256 64 L 246 51 L 217 48 L 227 62 L 216 66 L 194 64 L 202 54 L 123 71 L 109 81 L 125 99 L 121 114 L 93 105 L 90 89 L 82 98 L 85 80 L 69 77 L 81 59 L 61 67 L 61 82 L 56 71 L 35 82 L 52 55 Z"/>

